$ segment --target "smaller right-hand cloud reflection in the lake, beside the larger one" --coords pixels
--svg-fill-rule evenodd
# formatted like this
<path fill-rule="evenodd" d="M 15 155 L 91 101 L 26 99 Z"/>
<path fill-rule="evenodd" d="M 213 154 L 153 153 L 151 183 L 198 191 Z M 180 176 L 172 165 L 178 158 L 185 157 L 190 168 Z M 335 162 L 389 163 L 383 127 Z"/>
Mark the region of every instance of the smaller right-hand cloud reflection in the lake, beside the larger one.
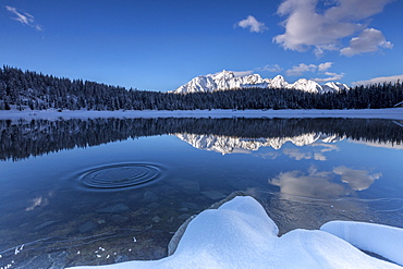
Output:
<path fill-rule="evenodd" d="M 381 173 L 369 174 L 365 170 L 354 170 L 344 166 L 333 168 L 333 173 L 341 175 L 341 181 L 347 183 L 354 191 L 367 189 L 376 180 L 382 176 Z"/>

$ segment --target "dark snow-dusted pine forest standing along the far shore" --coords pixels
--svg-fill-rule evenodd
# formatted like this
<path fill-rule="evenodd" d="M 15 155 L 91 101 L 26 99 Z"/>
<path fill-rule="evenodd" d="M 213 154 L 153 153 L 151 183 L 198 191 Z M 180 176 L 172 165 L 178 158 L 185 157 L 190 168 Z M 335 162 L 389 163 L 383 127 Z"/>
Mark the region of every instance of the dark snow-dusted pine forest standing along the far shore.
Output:
<path fill-rule="evenodd" d="M 0 110 L 379 109 L 401 101 L 399 81 L 326 94 L 282 88 L 171 94 L 0 69 Z"/>

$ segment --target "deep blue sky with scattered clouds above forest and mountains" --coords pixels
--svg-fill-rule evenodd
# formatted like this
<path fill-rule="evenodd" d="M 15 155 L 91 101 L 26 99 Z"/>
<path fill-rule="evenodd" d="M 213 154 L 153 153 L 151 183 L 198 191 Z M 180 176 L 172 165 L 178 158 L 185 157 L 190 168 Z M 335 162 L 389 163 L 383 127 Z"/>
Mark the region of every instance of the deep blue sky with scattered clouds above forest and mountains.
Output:
<path fill-rule="evenodd" d="M 0 64 L 169 90 L 222 70 L 403 78 L 402 0 L 0 0 Z"/>

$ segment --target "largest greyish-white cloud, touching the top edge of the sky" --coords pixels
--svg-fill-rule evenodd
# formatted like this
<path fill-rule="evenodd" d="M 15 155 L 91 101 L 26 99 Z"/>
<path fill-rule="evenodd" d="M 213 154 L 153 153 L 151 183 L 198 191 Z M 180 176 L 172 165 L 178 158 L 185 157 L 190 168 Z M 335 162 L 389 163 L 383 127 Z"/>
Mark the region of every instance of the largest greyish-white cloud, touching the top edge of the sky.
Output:
<path fill-rule="evenodd" d="M 273 41 L 284 49 L 306 51 L 314 48 L 320 56 L 326 50 L 340 50 L 341 40 L 366 28 L 368 19 L 392 0 L 334 0 L 319 12 L 318 0 L 285 0 L 277 13 L 286 16 L 285 33 Z M 328 1 L 328 3 L 331 3 Z"/>

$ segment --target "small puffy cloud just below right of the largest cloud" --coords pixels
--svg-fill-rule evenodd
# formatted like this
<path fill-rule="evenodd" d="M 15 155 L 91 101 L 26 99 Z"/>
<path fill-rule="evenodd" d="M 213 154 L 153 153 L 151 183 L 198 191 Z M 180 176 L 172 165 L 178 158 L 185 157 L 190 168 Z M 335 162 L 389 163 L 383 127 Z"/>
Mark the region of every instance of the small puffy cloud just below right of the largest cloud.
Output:
<path fill-rule="evenodd" d="M 377 51 L 379 48 L 391 49 L 393 45 L 387 41 L 382 33 L 378 29 L 364 29 L 358 37 L 350 40 L 350 47 L 340 50 L 343 56 L 352 57 L 363 52 Z"/>

